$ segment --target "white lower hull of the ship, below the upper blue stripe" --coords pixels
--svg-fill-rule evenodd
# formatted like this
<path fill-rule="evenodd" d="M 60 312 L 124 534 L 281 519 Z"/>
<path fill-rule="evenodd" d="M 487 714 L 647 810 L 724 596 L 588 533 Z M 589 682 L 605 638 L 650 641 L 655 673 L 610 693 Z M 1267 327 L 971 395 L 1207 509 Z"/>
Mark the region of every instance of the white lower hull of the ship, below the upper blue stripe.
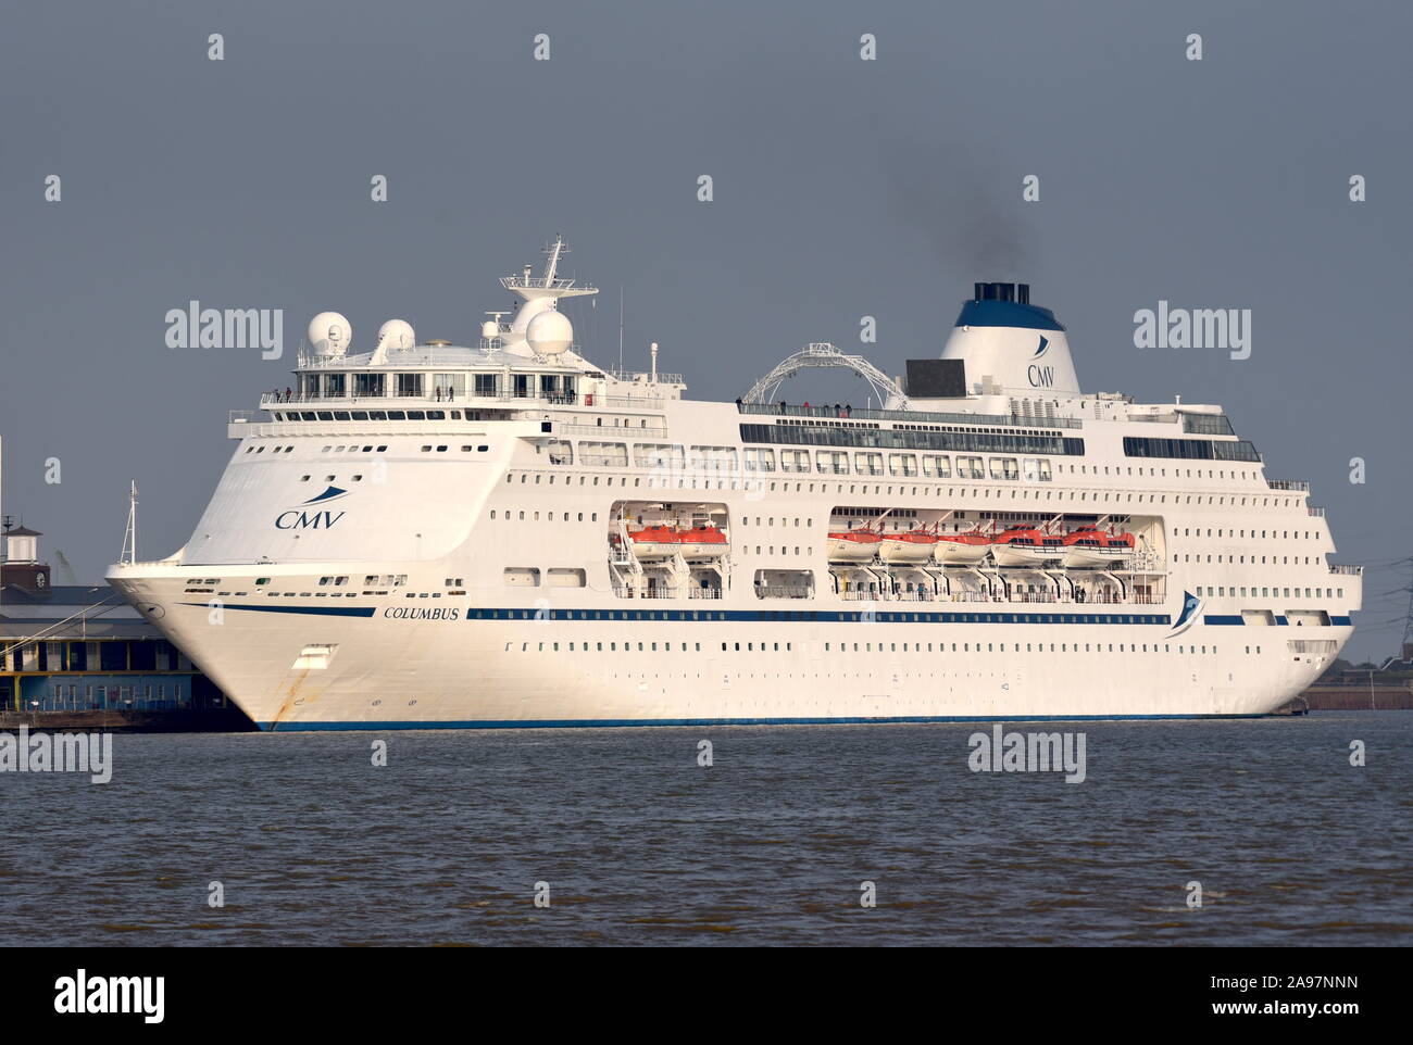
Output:
<path fill-rule="evenodd" d="M 1234 627 L 1197 626 L 1164 643 L 1170 623 L 877 620 L 894 610 L 910 616 L 917 604 L 875 609 L 862 621 L 776 623 L 760 620 L 757 607 L 726 610 L 721 602 L 712 611 L 732 619 L 579 620 L 568 606 L 544 619 L 523 602 L 519 610 L 495 607 L 500 619 L 486 620 L 471 613 L 478 600 L 469 597 L 438 607 L 456 611 L 447 620 L 386 616 L 397 607 L 352 617 L 308 603 L 281 604 L 278 613 L 230 603 L 225 621 L 212 624 L 205 604 L 182 606 L 181 585 L 154 568 L 124 571 L 114 583 L 138 604 L 171 607 L 158 623 L 266 730 L 1249 716 L 1275 710 L 1328 667 L 1289 655 L 1283 634 L 1267 638 L 1259 657 L 1245 655 L 1246 637 L 1232 634 L 1243 628 Z M 584 604 L 626 611 L 608 599 Z M 926 607 L 968 617 L 991 609 Z M 1089 620 L 1116 609 L 1133 607 L 1064 611 Z M 1177 607 L 1140 609 L 1171 621 Z M 510 611 L 517 619 L 506 619 Z M 858 604 L 845 611 L 868 613 Z M 1338 643 L 1348 631 L 1320 628 Z M 1036 641 L 1041 633 L 1044 650 Z M 1065 651 L 1050 652 L 1051 641 Z M 1135 652 L 1106 652 L 1111 643 Z M 329 665 L 295 668 L 312 644 L 335 647 Z M 880 644 L 887 650 L 876 651 Z M 1149 651 L 1139 651 L 1145 645 Z"/>

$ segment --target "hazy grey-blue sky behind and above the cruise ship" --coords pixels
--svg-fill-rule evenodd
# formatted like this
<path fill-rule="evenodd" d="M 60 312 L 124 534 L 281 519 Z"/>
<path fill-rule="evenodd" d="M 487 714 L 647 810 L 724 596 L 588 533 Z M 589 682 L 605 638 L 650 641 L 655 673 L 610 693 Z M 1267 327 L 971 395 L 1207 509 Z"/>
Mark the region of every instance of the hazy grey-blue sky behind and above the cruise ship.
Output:
<path fill-rule="evenodd" d="M 622 284 L 627 360 L 658 340 L 706 398 L 811 340 L 899 373 L 940 352 L 974 281 L 1027 280 L 1087 388 L 1225 404 L 1273 477 L 1314 483 L 1340 561 L 1399 559 L 1410 35 L 1393 3 L 10 8 L 4 508 L 93 580 L 136 477 L 140 552 L 168 554 L 229 456 L 226 411 L 292 363 L 167 349 L 167 309 L 283 308 L 290 354 L 322 309 L 356 347 L 391 316 L 466 342 L 507 301 L 496 277 L 564 232 L 603 289 L 567 309 L 585 352 L 615 362 Z M 1135 349 L 1133 312 L 1160 298 L 1252 309 L 1252 357 Z M 877 345 L 859 345 L 862 315 Z M 1393 651 L 1400 628 L 1376 628 L 1402 604 L 1378 595 L 1406 578 L 1371 572 L 1347 655 Z"/>

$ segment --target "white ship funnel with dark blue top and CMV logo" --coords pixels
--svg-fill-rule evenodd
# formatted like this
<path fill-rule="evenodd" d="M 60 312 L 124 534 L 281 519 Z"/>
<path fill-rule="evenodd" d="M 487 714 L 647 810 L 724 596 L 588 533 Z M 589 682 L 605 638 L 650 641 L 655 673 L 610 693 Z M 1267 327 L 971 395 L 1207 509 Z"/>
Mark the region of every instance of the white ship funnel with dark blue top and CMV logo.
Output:
<path fill-rule="evenodd" d="M 1009 395 L 1080 393 L 1070 342 L 1054 312 L 1030 304 L 1030 285 L 978 282 L 962 305 L 942 359 L 966 363 L 966 383 Z"/>

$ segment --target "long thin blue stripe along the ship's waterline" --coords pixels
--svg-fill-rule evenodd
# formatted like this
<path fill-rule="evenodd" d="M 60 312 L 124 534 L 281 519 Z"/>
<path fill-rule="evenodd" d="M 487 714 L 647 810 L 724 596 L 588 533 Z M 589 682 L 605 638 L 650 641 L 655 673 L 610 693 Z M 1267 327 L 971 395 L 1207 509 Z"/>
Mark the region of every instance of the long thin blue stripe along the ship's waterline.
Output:
<path fill-rule="evenodd" d="M 1251 715 L 899 715 L 842 719 L 567 719 L 544 722 L 257 722 L 266 733 L 387 729 L 619 729 L 625 726 L 866 726 L 944 722 L 1147 722 L 1184 719 L 1263 719 Z"/>

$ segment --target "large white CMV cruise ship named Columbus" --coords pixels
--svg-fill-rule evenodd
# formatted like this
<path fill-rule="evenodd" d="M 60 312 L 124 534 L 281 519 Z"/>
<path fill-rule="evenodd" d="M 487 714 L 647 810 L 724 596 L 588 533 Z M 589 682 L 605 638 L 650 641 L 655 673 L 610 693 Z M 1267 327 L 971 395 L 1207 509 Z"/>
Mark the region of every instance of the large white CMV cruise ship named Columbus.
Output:
<path fill-rule="evenodd" d="M 585 357 L 565 250 L 469 345 L 317 316 L 187 545 L 110 569 L 260 727 L 1258 716 L 1349 638 L 1308 484 L 1081 391 L 1026 284 L 906 374 L 811 343 L 711 402 Z M 869 402 L 777 398 L 812 367 Z"/>

